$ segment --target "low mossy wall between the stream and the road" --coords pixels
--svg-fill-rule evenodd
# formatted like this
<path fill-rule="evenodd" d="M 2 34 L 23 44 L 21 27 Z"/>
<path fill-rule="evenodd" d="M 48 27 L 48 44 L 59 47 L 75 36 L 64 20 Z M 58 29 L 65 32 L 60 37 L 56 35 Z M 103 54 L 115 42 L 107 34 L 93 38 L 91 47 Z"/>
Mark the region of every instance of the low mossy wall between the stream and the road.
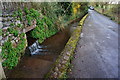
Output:
<path fill-rule="evenodd" d="M 45 78 L 65 78 L 67 74 L 67 69 L 70 66 L 70 61 L 73 58 L 74 50 L 76 48 L 77 42 L 82 31 L 83 23 L 88 14 L 86 14 L 80 21 L 79 25 L 72 33 L 69 41 L 67 42 L 64 50 L 61 52 L 60 56 L 53 65 L 53 68 L 48 74 L 45 75 Z"/>

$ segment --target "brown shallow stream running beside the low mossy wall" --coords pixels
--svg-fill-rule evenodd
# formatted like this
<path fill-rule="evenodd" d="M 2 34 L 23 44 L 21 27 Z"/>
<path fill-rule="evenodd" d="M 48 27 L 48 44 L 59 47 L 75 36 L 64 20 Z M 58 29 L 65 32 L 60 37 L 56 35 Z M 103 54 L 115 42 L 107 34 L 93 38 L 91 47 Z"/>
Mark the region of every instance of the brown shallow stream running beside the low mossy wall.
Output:
<path fill-rule="evenodd" d="M 53 63 L 64 49 L 77 22 L 69 28 L 47 38 L 42 44 L 27 34 L 28 47 L 19 64 L 12 70 L 6 71 L 8 78 L 43 78 L 52 68 Z"/>

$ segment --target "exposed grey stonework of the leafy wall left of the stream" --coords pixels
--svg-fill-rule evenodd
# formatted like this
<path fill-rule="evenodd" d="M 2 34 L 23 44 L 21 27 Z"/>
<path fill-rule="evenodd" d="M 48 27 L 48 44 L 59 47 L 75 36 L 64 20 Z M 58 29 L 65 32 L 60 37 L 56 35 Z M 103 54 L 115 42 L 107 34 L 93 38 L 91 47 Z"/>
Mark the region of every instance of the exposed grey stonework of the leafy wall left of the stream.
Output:
<path fill-rule="evenodd" d="M 8 32 L 8 28 L 11 28 L 10 24 L 15 23 L 16 25 L 19 23 L 22 23 L 20 21 L 15 21 L 13 17 L 11 17 L 12 12 L 18 10 L 19 7 L 24 8 L 24 7 L 31 7 L 30 3 L 22 3 L 22 2 L 1 2 L 0 3 L 0 10 L 2 10 L 2 14 L 0 13 L 0 29 L 2 31 L 2 34 L 0 35 L 0 54 L 2 52 L 2 46 L 4 45 L 4 42 L 8 41 L 9 38 L 11 38 L 11 43 L 13 44 L 13 47 L 16 47 L 17 44 L 20 41 L 20 34 L 26 33 L 36 27 L 36 22 L 33 21 L 31 26 L 26 26 L 23 24 L 24 28 L 19 28 L 16 26 L 12 26 L 12 28 L 16 29 L 18 31 L 18 36 L 14 36 L 14 34 Z M 19 6 L 19 7 L 18 7 Z M 7 21 L 9 20 L 9 21 Z M 11 21 L 11 22 L 10 22 Z M 17 22 L 17 23 L 16 23 Z M 23 50 L 23 54 L 25 51 L 25 48 L 27 47 L 27 37 L 26 34 L 24 36 L 25 41 L 25 47 Z M 4 60 L 0 56 L 0 80 L 2 78 L 5 78 L 4 74 L 4 69 L 2 67 L 2 62 Z"/>

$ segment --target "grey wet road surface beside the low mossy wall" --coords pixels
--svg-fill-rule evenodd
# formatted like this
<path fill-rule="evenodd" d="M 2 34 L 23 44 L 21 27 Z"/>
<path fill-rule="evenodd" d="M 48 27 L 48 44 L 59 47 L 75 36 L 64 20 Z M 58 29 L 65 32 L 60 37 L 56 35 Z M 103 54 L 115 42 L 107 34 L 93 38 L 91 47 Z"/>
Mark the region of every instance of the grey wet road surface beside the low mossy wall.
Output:
<path fill-rule="evenodd" d="M 89 10 L 74 57 L 70 78 L 117 78 L 118 24 Z"/>

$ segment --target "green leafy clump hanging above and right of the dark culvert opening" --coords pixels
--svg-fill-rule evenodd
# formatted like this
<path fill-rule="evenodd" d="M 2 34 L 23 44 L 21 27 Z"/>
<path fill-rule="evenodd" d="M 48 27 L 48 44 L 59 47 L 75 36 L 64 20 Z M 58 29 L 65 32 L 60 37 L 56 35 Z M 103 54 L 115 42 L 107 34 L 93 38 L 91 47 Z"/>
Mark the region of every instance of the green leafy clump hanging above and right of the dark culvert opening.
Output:
<path fill-rule="evenodd" d="M 31 32 L 31 36 L 33 38 L 39 39 L 39 43 L 42 43 L 46 38 L 57 32 L 57 30 L 53 28 L 52 20 L 46 16 L 43 16 L 43 18 L 40 19 L 40 13 L 37 10 L 28 10 L 27 8 L 25 8 L 25 13 L 29 25 L 31 25 L 31 21 L 33 19 L 36 19 L 37 27 Z"/>

